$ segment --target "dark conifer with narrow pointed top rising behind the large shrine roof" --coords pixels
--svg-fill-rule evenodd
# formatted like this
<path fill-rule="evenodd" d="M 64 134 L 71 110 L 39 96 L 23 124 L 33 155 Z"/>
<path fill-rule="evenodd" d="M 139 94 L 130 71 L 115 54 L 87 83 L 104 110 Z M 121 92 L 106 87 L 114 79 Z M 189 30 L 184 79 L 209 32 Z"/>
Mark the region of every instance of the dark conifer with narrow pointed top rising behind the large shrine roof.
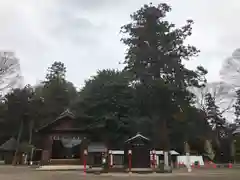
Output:
<path fill-rule="evenodd" d="M 65 79 L 65 74 L 66 67 L 64 64 L 54 62 L 48 68 L 42 89 L 38 89 L 45 104 L 43 108 L 45 122 L 42 122 L 42 124 L 57 118 L 64 110 L 69 108 L 71 102 L 77 96 L 75 87 Z"/>

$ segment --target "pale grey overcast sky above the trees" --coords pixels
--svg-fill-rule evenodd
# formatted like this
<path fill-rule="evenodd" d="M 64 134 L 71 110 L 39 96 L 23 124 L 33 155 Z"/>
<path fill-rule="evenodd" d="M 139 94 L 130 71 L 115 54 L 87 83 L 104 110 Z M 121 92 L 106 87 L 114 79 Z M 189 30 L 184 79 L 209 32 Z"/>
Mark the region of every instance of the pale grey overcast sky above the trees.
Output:
<path fill-rule="evenodd" d="M 67 67 L 76 86 L 97 69 L 121 68 L 124 46 L 120 27 L 148 0 L 0 0 L 0 49 L 15 51 L 25 83 L 42 80 L 53 61 Z M 240 47 L 239 0 L 168 0 L 168 19 L 183 25 L 193 19 L 189 39 L 209 70 L 209 81 L 219 80 L 222 61 Z"/>

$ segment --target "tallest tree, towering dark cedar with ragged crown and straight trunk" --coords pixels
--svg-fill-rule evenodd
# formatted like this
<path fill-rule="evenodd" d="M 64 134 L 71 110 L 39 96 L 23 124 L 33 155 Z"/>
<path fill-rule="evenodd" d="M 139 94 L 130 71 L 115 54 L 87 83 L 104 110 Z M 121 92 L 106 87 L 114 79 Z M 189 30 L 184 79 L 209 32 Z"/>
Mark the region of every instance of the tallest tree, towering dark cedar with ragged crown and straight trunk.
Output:
<path fill-rule="evenodd" d="M 146 108 L 149 115 L 154 116 L 154 124 L 157 123 L 154 127 L 162 128 L 157 132 L 162 133 L 163 148 L 169 146 L 167 120 L 174 112 L 183 112 L 189 107 L 193 94 L 187 87 L 203 85 L 207 73 L 201 66 L 192 71 L 182 64 L 199 52 L 196 47 L 184 44 L 192 34 L 193 21 L 175 28 L 165 20 L 170 11 L 171 7 L 164 3 L 144 5 L 131 15 L 132 22 L 121 30 L 126 35 L 122 41 L 128 46 L 125 70 L 133 74 L 134 82 L 144 86 L 142 102 L 149 102 Z"/>

